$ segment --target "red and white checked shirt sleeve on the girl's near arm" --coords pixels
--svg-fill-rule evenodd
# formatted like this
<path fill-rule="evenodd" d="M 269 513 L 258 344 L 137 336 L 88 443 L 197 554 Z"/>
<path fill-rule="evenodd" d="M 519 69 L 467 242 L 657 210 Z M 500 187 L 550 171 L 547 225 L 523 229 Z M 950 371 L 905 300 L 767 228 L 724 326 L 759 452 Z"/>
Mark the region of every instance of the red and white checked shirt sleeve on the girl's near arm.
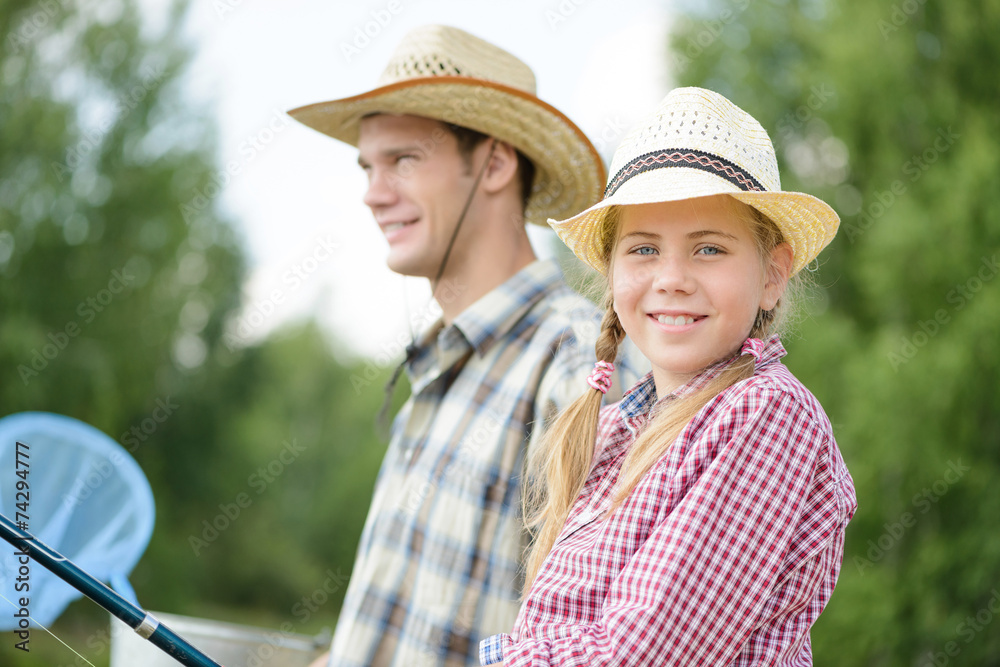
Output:
<path fill-rule="evenodd" d="M 686 488 L 666 480 L 656 493 L 648 490 L 655 485 L 634 492 L 650 493 L 641 500 L 655 503 L 643 503 L 643 511 L 672 508 L 615 576 L 599 620 L 568 627 L 559 639 L 516 641 L 504 664 L 728 664 L 767 615 L 806 604 L 822 578 L 797 577 L 808 583 L 796 599 L 777 611 L 768 606 L 788 574 L 783 562 L 826 433 L 785 393 L 737 400 L 685 445 L 675 477 Z M 705 438 L 718 442 L 706 445 Z M 671 495 L 680 496 L 676 505 Z M 829 541 L 837 523 L 829 519 L 816 520 L 814 532 L 825 533 L 813 536 L 816 544 Z M 806 558 L 800 562 L 809 567 Z"/>

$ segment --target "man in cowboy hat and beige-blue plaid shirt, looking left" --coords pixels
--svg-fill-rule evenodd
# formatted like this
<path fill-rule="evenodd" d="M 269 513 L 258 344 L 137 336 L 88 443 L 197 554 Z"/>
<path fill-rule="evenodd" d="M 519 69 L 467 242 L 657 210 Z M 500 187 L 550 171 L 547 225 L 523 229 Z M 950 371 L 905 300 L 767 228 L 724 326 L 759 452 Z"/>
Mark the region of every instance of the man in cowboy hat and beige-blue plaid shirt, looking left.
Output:
<path fill-rule="evenodd" d="M 412 394 L 314 665 L 478 664 L 518 610 L 525 448 L 586 389 L 599 331 L 524 222 L 595 202 L 603 165 L 527 65 L 444 26 L 407 35 L 376 89 L 290 113 L 358 147 L 389 267 L 429 279 L 442 311 L 404 361 Z"/>

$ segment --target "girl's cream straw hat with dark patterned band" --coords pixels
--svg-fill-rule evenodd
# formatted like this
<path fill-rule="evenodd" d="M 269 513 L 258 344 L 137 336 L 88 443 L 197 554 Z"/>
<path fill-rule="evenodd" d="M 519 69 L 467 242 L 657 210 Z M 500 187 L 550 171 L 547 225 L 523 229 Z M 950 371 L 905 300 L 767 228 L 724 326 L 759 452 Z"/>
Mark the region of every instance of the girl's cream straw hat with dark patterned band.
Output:
<path fill-rule="evenodd" d="M 633 130 L 611 160 L 604 199 L 569 219 L 549 224 L 581 260 L 601 273 L 601 248 L 613 232 L 612 206 L 678 201 L 727 194 L 766 215 L 792 247 L 797 273 L 826 247 L 840 217 L 825 202 L 783 192 L 767 132 L 722 95 L 676 88 Z"/>

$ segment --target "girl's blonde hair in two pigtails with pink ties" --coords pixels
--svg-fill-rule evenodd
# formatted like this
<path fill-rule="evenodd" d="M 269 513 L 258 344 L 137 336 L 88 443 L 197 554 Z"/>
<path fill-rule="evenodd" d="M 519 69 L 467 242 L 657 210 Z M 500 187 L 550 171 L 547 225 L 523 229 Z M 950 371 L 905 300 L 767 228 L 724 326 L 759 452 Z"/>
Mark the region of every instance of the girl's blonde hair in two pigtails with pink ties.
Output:
<path fill-rule="evenodd" d="M 765 273 L 775 270 L 771 251 L 784 241 L 777 225 L 757 209 L 731 197 L 726 199 L 732 202 L 733 214 L 750 227 Z M 608 261 L 609 276 L 620 221 L 621 207 L 609 208 L 604 217 L 601 236 L 601 252 Z M 802 279 L 797 275 L 793 276 L 775 307 L 769 311 L 758 311 L 749 337 L 766 339 L 780 333 L 790 319 L 790 311 L 793 310 L 792 306 L 802 287 Z M 610 279 L 605 285 L 603 306 L 604 318 L 595 352 L 598 360 L 613 362 L 625 338 L 625 331 L 613 307 Z M 753 357 L 742 355 L 703 387 L 678 398 L 668 409 L 653 415 L 622 463 L 608 514 L 625 502 L 639 480 L 663 457 L 688 422 L 709 401 L 737 382 L 751 377 L 753 373 Z M 533 532 L 533 539 L 525 561 L 524 596 L 531 590 L 542 562 L 552 550 L 573 503 L 583 491 L 593 463 L 602 396 L 596 389 L 587 390 L 559 414 L 542 439 L 528 453 L 523 502 L 525 525 Z"/>

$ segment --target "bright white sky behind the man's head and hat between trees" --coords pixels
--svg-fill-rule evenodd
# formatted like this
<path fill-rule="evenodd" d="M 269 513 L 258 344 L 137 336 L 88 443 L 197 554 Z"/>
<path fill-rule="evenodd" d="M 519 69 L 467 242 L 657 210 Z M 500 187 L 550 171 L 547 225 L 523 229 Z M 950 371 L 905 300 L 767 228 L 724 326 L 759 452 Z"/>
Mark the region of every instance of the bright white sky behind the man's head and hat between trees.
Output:
<path fill-rule="evenodd" d="M 251 339 L 312 316 L 344 354 L 397 356 L 406 308 L 428 308 L 426 280 L 385 266 L 388 246 L 361 203 L 357 150 L 284 113 L 372 88 L 412 28 L 446 23 L 514 53 L 535 71 L 539 97 L 576 122 L 606 162 L 669 89 L 664 0 L 192 5 L 188 88 L 214 108 L 220 171 L 239 166 L 220 201 L 249 257 L 240 333 Z M 551 232 L 538 228 L 532 239 L 537 254 L 551 255 Z"/>

